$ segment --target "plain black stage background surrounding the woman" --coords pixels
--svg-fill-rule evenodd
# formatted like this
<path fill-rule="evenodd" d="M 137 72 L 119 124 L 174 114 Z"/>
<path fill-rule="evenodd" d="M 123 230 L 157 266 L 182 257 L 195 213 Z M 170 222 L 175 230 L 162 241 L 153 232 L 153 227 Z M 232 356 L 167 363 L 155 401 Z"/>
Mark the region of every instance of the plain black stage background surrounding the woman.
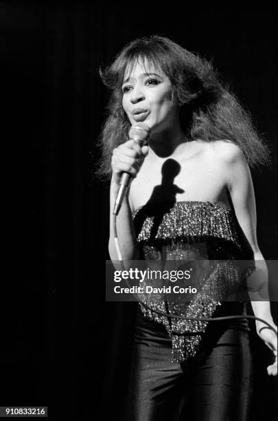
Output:
<path fill-rule="evenodd" d="M 124 400 L 134 308 L 105 303 L 108 186 L 93 169 L 108 98 L 97 69 L 128 41 L 157 33 L 213 58 L 251 111 L 273 161 L 252 171 L 257 236 L 277 259 L 275 25 L 262 8 L 0 3 L 1 405 L 116 420 Z M 274 420 L 271 354 L 252 344 L 251 419 Z"/>

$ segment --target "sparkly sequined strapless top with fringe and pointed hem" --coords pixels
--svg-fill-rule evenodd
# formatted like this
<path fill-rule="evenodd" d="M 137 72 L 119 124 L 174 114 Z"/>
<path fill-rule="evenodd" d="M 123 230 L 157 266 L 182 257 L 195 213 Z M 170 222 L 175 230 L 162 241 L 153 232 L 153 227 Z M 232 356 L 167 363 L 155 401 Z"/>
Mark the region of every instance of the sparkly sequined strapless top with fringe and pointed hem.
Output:
<path fill-rule="evenodd" d="M 202 277 L 192 301 L 175 303 L 143 296 L 139 302 L 143 316 L 164 325 L 172 338 L 172 361 L 181 362 L 198 352 L 208 323 L 170 319 L 167 314 L 213 316 L 222 303 L 225 285 L 238 282 L 230 264 L 242 258 L 237 221 L 233 210 L 198 201 L 146 204 L 135 211 L 133 218 L 143 259 L 153 263 L 194 261 L 196 272 L 202 274 L 204 262 L 211 268 Z"/>

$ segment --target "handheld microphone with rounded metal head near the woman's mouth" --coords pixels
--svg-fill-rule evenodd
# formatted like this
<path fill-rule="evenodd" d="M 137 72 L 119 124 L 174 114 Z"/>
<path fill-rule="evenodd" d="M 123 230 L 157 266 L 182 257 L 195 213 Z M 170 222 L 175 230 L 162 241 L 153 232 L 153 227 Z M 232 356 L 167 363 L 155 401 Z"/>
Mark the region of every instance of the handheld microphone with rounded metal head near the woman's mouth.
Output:
<path fill-rule="evenodd" d="M 139 144 L 139 147 L 143 147 L 150 139 L 150 127 L 148 127 L 148 125 L 144 122 L 137 122 L 135 125 L 130 127 L 129 138 L 130 140 L 135 140 L 135 142 Z M 124 196 L 126 195 L 126 188 L 128 188 L 130 180 L 131 175 L 129 173 L 122 173 L 113 215 L 117 215 L 119 213 Z"/>

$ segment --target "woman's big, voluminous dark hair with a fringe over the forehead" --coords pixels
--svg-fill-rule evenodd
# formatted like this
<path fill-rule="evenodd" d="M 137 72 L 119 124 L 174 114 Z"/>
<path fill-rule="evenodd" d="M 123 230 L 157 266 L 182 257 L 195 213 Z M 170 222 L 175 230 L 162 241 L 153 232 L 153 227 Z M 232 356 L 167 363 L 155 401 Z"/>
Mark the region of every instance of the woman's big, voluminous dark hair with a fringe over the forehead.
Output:
<path fill-rule="evenodd" d="M 111 89 L 111 98 L 99 140 L 102 149 L 99 177 L 111 175 L 112 151 L 128 140 L 130 122 L 121 103 L 121 85 L 126 72 L 131 73 L 136 63 L 148 63 L 170 78 L 172 98 L 180 106 L 186 140 L 227 140 L 242 149 L 250 166 L 269 162 L 268 147 L 259 137 L 251 116 L 222 83 L 211 63 L 170 39 L 152 35 L 132 41 L 110 67 L 100 69 L 104 84 Z"/>

